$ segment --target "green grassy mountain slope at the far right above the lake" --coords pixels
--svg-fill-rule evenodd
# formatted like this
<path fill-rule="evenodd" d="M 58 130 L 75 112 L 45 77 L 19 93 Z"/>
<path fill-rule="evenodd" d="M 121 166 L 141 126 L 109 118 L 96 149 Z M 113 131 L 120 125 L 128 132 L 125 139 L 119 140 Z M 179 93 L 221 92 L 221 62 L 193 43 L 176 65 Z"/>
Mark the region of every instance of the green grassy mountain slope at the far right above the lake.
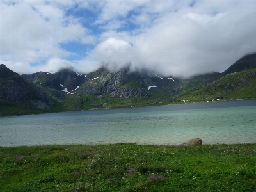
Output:
<path fill-rule="evenodd" d="M 195 92 L 187 92 L 178 100 L 206 101 L 216 99 L 256 98 L 256 53 L 243 56 L 221 74 L 216 81 Z M 212 79 L 214 80 L 214 78 Z"/>

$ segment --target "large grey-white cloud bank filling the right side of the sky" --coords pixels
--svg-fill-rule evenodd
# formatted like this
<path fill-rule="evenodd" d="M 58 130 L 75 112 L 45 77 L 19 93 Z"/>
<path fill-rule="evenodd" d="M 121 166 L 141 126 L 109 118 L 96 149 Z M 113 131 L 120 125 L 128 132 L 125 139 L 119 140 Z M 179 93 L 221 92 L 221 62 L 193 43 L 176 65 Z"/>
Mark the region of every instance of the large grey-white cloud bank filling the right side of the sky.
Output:
<path fill-rule="evenodd" d="M 98 59 L 108 62 L 109 66 L 113 64 L 112 68 L 116 68 L 116 63 L 118 66 L 127 63 L 131 68 L 152 69 L 164 76 L 188 77 L 204 72 L 221 72 L 244 54 L 256 51 L 253 1 L 205 2 L 196 1 L 195 8 L 189 7 L 188 1 L 166 6 L 163 1 L 157 2 L 159 6 L 153 4 L 150 8 L 161 12 L 153 21 L 146 4 L 145 9 L 141 8 L 141 15 L 134 16 L 136 24 L 142 26 L 138 29 L 140 32 L 125 38 L 132 44 L 125 52 L 130 56 L 124 57 L 109 47 L 109 57 L 99 56 Z M 176 10 L 166 12 L 170 6 Z M 108 37 L 117 37 L 119 33 L 112 31 Z M 96 47 L 93 55 L 102 55 L 101 52 Z"/>

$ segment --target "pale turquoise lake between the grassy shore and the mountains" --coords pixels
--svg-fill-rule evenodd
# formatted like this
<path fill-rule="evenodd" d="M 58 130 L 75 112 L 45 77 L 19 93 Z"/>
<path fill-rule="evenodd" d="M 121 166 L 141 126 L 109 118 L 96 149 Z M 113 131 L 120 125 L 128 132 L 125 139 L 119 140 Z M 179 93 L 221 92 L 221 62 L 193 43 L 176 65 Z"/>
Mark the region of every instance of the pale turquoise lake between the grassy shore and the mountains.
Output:
<path fill-rule="evenodd" d="M 172 104 L 0 118 L 0 146 L 256 143 L 256 100 Z"/>

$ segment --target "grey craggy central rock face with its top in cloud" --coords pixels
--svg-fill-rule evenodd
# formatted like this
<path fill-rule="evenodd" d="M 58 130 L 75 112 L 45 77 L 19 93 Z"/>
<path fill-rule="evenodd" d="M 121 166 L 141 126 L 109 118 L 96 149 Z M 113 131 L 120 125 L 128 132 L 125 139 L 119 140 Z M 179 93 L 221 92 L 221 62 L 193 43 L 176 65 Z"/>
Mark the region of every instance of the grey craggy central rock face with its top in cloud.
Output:
<path fill-rule="evenodd" d="M 127 70 L 113 72 L 105 68 L 88 74 L 77 88 L 79 96 L 90 94 L 124 98 L 150 95 L 139 73 L 129 73 Z"/>

